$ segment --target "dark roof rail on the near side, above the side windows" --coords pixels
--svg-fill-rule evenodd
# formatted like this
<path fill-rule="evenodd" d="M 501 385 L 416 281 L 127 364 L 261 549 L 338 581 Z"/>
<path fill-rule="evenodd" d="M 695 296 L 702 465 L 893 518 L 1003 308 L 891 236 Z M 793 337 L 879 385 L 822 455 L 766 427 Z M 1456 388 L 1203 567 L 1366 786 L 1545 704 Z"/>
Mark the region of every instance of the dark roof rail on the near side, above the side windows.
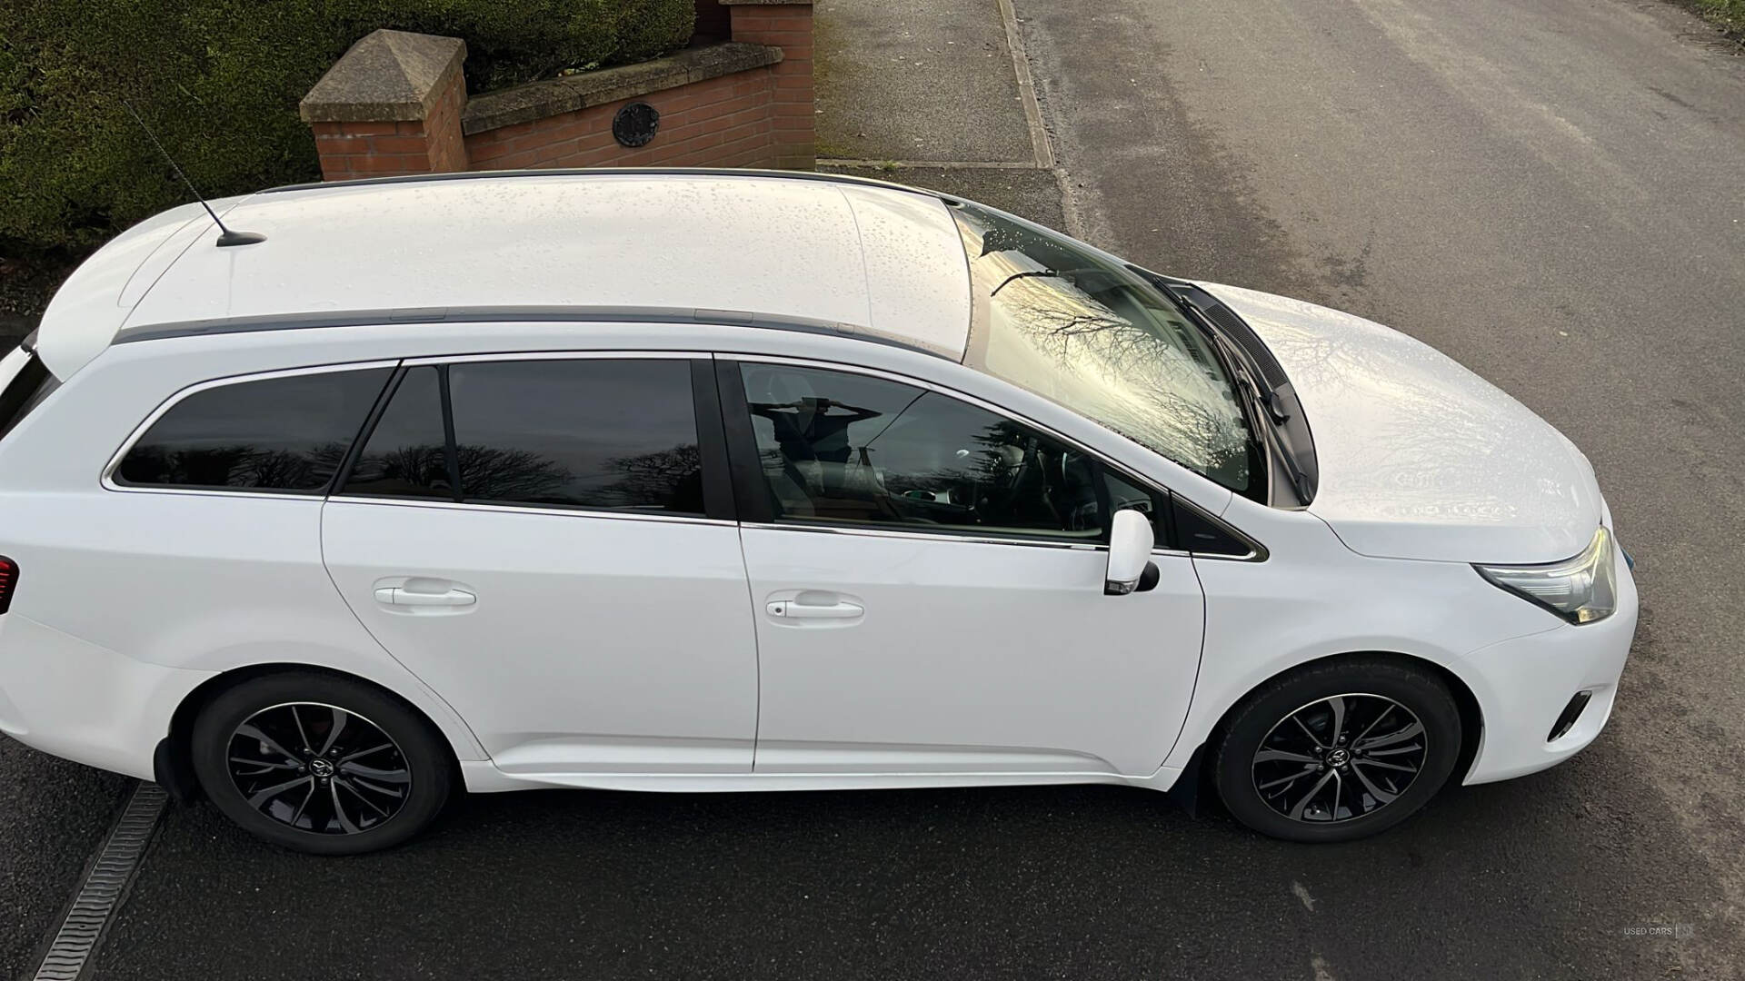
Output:
<path fill-rule="evenodd" d="M 588 305 L 487 305 L 487 307 L 403 307 L 373 311 L 297 312 L 246 318 L 215 318 L 129 326 L 115 335 L 115 344 L 199 337 L 215 333 L 253 333 L 267 330 L 309 330 L 319 326 L 387 326 L 396 323 L 696 323 L 708 326 L 752 326 L 867 340 L 902 347 L 932 358 L 953 358 L 942 351 L 899 340 L 872 328 L 785 314 L 749 311 L 712 311 L 696 307 L 588 307 Z"/>

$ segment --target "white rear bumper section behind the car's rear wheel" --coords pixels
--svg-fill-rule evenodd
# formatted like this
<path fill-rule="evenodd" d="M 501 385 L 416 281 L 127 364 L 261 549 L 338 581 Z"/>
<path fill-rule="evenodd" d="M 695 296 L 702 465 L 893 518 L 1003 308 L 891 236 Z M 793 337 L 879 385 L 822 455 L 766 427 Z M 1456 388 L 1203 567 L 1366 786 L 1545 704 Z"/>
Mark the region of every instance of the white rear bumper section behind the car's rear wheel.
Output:
<path fill-rule="evenodd" d="M 215 674 L 138 662 L 12 611 L 0 618 L 0 731 L 152 780 L 152 752 L 176 705 Z"/>

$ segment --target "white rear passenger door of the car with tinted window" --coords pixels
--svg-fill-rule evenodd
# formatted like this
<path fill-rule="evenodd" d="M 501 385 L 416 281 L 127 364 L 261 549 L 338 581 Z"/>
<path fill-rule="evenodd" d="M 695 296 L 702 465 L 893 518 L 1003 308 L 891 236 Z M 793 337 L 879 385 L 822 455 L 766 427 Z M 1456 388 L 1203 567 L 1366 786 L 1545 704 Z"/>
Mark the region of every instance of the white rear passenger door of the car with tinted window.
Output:
<path fill-rule="evenodd" d="M 489 356 L 394 384 L 321 522 L 377 641 L 504 772 L 749 772 L 757 649 L 708 360 Z"/>

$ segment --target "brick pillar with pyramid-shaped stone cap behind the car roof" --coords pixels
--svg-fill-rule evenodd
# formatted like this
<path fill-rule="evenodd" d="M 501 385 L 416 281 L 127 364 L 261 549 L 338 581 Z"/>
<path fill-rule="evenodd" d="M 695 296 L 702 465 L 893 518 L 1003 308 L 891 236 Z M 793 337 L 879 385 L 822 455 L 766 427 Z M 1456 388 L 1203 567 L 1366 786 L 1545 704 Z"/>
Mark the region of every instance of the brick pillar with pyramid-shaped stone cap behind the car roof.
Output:
<path fill-rule="evenodd" d="M 464 171 L 462 61 L 455 37 L 379 30 L 351 45 L 297 106 L 321 178 Z"/>

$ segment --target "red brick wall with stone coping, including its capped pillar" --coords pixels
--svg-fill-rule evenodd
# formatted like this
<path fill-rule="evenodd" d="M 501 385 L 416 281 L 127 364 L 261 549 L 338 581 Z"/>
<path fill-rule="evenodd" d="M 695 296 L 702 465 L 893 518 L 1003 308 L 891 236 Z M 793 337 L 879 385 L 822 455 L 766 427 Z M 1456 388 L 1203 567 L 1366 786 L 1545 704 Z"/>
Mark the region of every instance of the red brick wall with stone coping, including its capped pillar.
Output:
<path fill-rule="evenodd" d="M 457 38 L 375 31 L 309 91 L 325 180 L 593 166 L 811 169 L 811 5 L 719 0 L 731 42 L 520 89 L 466 96 Z M 623 147 L 612 117 L 640 101 L 654 138 Z"/>

